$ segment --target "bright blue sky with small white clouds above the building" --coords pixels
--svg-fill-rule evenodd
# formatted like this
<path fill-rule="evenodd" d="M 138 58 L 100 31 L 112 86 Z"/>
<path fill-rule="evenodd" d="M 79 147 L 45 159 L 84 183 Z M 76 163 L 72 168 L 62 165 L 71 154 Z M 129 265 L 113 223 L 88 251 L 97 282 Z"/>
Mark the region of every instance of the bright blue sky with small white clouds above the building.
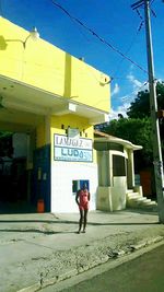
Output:
<path fill-rule="evenodd" d="M 36 26 L 40 37 L 74 57 L 84 57 L 85 62 L 113 77 L 112 115 L 125 115 L 126 108 L 143 90 L 148 74 L 133 62 L 147 70 L 147 46 L 144 19 L 131 9 L 132 0 L 58 0 L 72 16 L 94 31 L 105 42 L 121 51 L 132 62 L 124 59 L 98 40 L 84 26 L 72 21 L 57 8 L 52 0 L 0 0 L 1 15 L 31 31 Z M 155 78 L 164 80 L 164 2 L 151 0 L 151 14 Z M 148 85 L 147 85 L 148 86 Z"/>

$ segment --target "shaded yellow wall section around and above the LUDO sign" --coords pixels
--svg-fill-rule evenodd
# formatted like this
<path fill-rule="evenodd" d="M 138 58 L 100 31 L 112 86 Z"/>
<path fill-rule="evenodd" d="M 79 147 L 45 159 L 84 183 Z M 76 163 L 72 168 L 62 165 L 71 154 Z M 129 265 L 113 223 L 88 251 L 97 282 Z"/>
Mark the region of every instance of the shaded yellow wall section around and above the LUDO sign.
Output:
<path fill-rule="evenodd" d="M 61 125 L 65 126 L 65 129 L 61 129 Z M 54 135 L 66 135 L 68 126 L 71 128 L 78 128 L 82 133 L 81 138 L 92 139 L 93 140 L 93 126 L 89 125 L 87 119 L 75 115 L 65 115 L 62 117 L 51 117 L 51 160 L 54 160 Z M 87 137 L 85 137 L 85 135 Z M 96 162 L 96 151 L 93 149 L 93 162 Z"/>

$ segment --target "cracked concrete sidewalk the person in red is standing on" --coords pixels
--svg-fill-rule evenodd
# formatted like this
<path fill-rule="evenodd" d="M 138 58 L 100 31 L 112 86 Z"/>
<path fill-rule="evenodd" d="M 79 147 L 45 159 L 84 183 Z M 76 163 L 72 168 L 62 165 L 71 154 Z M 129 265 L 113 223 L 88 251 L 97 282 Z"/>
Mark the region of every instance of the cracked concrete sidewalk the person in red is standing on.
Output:
<path fill-rule="evenodd" d="M 0 290 L 38 291 L 164 238 L 155 212 L 93 211 L 85 234 L 75 233 L 78 221 L 78 213 L 0 214 Z"/>

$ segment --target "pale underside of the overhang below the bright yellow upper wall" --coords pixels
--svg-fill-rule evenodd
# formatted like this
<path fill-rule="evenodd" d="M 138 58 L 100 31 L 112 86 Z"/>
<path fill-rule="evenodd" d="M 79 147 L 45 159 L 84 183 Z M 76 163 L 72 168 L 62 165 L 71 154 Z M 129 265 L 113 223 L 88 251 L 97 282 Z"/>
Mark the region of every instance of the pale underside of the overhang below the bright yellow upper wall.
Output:
<path fill-rule="evenodd" d="M 17 110 L 42 116 L 74 114 L 87 118 L 90 125 L 108 121 L 108 113 L 4 75 L 0 75 L 0 96 L 1 108 L 3 107 L 8 110 L 12 109 L 13 112 Z M 3 120 L 5 120 L 7 115 L 0 115 L 0 120 L 3 117 Z"/>

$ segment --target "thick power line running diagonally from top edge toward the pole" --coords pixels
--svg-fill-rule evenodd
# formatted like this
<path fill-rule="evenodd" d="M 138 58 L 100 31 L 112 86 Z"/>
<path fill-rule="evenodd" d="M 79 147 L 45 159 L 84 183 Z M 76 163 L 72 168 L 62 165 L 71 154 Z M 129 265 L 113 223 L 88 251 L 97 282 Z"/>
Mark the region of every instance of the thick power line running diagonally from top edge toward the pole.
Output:
<path fill-rule="evenodd" d="M 51 0 L 52 4 L 58 7 L 65 14 L 67 14 L 72 21 L 74 21 L 75 23 L 78 23 L 79 25 L 81 25 L 83 28 L 85 28 L 87 32 L 90 32 L 93 36 L 95 36 L 99 42 L 102 42 L 103 44 L 105 44 L 107 47 L 109 47 L 110 49 L 113 49 L 115 52 L 117 52 L 119 56 L 121 56 L 124 59 L 128 60 L 129 62 L 131 62 L 132 65 L 134 65 L 136 67 L 138 67 L 141 71 L 143 71 L 144 73 L 148 74 L 148 71 L 142 68 L 140 65 L 138 65 L 136 61 L 133 61 L 132 59 L 130 59 L 129 57 L 127 57 L 124 52 L 121 52 L 119 49 L 117 49 L 116 47 L 114 47 L 109 42 L 107 42 L 105 38 L 103 38 L 102 36 L 99 36 L 97 33 L 95 33 L 92 28 L 90 28 L 86 24 L 84 24 L 83 22 L 81 22 L 79 19 L 77 19 L 75 16 L 71 15 L 63 7 L 61 7 L 59 3 L 57 3 L 56 1 Z"/>

